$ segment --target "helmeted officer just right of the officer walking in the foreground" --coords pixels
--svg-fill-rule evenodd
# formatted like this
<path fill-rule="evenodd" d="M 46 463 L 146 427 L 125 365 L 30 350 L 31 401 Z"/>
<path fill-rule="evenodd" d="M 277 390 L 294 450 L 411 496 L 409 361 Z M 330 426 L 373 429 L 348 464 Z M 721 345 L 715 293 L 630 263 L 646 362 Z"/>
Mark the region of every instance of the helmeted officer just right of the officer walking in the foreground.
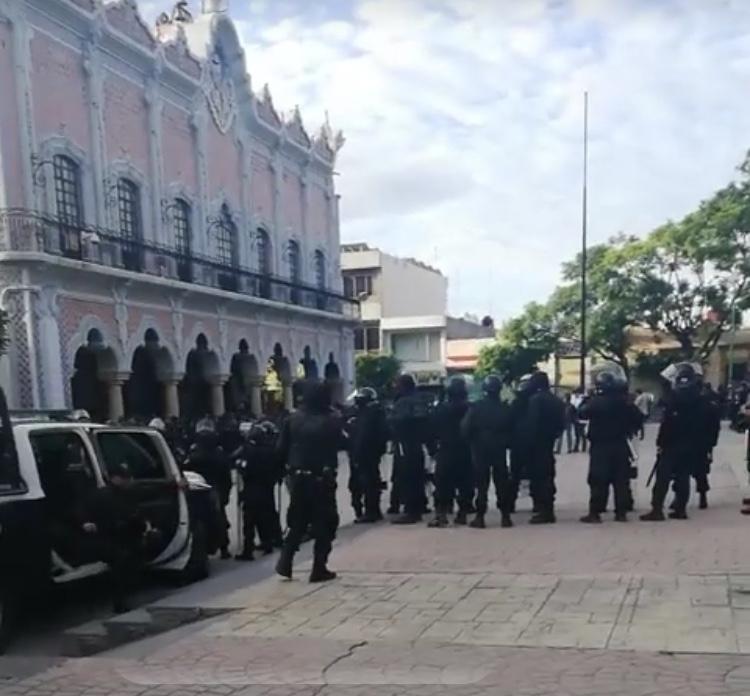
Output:
<path fill-rule="evenodd" d="M 355 522 L 365 524 L 383 519 L 380 510 L 380 460 L 388 445 L 388 424 L 374 389 L 359 389 L 354 404 L 355 411 L 347 422 L 349 460 L 364 502 L 364 511 L 359 511 Z"/>

